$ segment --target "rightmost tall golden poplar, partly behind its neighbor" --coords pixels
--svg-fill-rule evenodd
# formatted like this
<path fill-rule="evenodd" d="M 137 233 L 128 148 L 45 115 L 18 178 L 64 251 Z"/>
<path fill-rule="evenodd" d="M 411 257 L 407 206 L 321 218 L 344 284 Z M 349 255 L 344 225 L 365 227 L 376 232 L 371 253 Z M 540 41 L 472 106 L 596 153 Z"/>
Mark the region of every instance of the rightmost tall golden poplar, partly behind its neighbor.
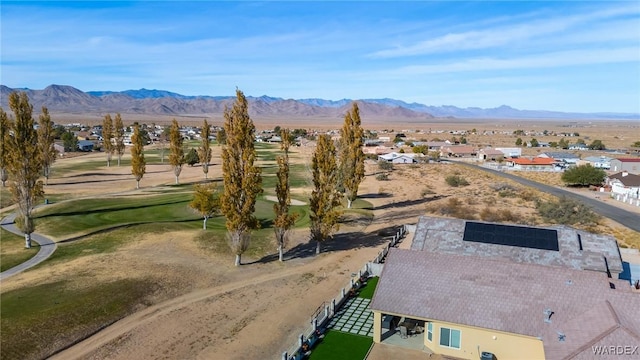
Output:
<path fill-rule="evenodd" d="M 344 116 L 340 135 L 341 185 L 347 198 L 347 208 L 350 209 L 351 204 L 358 197 L 358 188 L 364 179 L 364 153 L 362 152 L 364 130 L 356 102 Z"/>

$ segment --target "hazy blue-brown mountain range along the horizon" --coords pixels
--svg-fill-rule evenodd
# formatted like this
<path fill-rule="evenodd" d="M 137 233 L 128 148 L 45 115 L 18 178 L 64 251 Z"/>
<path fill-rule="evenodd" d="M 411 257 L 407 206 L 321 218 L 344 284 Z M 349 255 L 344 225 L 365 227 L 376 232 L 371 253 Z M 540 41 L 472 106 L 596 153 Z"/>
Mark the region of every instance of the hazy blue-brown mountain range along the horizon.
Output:
<path fill-rule="evenodd" d="M 34 109 L 46 106 L 63 113 L 112 113 L 148 115 L 220 115 L 231 106 L 232 96 L 186 96 L 166 90 L 126 90 L 83 92 L 72 86 L 50 85 L 43 90 L 12 89 L 0 85 L 0 106 L 8 109 L 12 91 L 24 91 Z M 270 96 L 248 96 L 249 114 L 258 117 L 342 117 L 353 100 L 283 99 Z M 361 115 L 387 119 L 640 119 L 629 113 L 566 113 L 545 110 L 519 110 L 510 106 L 497 108 L 459 108 L 452 105 L 428 106 L 396 99 L 361 99 Z"/>

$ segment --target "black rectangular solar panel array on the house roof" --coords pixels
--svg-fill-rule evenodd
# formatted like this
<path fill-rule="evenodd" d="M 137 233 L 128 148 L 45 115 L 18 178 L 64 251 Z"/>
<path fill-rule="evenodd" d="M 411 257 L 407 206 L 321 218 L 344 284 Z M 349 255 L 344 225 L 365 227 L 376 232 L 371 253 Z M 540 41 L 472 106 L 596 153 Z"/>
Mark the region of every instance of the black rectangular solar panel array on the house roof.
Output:
<path fill-rule="evenodd" d="M 559 250 L 558 232 L 556 230 L 523 226 L 467 221 L 464 227 L 463 240 L 530 249 Z"/>

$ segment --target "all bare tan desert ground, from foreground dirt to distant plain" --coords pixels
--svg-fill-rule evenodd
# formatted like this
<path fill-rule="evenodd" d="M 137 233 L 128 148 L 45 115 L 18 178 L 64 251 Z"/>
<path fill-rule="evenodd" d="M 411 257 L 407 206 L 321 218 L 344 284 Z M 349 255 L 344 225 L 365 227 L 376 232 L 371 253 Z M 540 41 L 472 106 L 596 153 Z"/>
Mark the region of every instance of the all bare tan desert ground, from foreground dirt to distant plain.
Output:
<path fill-rule="evenodd" d="M 126 121 L 133 119 L 123 116 Z M 82 122 L 65 118 L 68 122 Z M 87 117 L 84 120 L 90 120 Z M 55 119 L 54 119 L 55 120 Z M 171 119 L 164 119 L 167 122 Z M 136 121 L 159 124 L 158 118 L 137 118 Z M 180 118 L 180 122 L 187 119 Z M 202 118 L 188 119 L 199 125 Z M 256 119 L 258 129 L 272 129 L 275 125 L 291 128 L 339 128 L 342 119 L 319 119 L 297 122 L 282 119 Z M 101 121 L 95 119 L 96 122 Z M 65 123 L 63 120 L 56 120 Z M 213 119 L 221 125 L 222 119 Z M 390 129 L 384 119 L 363 122 L 365 129 Z M 583 138 L 601 139 L 608 146 L 614 143 L 628 146 L 640 139 L 640 125 L 632 122 L 580 122 L 564 121 L 479 121 L 456 123 L 433 121 L 393 124 L 396 132 L 416 130 L 416 139 L 448 139 L 448 131 L 476 129 L 468 135 L 471 144 L 512 146 L 515 137 L 506 134 L 482 135 L 484 130 L 516 129 L 533 131 L 579 132 Z M 442 130 L 442 132 L 438 132 Z M 528 140 L 529 137 L 527 137 Z M 554 141 L 536 137 L 539 141 Z M 551 138 L 551 137 L 549 137 Z M 589 140 L 587 140 L 589 143 Z M 611 144 L 611 145 L 610 145 Z M 210 177 L 220 176 L 219 147 L 214 146 Z M 527 149 L 532 155 L 539 149 Z M 293 161 L 308 164 L 313 146 L 294 149 Z M 144 196 L 149 191 L 163 189 L 174 182 L 168 164 L 148 166 L 135 190 L 130 168 L 106 166 L 98 170 L 75 170 L 55 173 L 55 167 L 104 159 L 104 154 L 89 153 L 58 160 L 54 176 L 45 191 L 48 196 L 91 199 L 120 196 Z M 313 312 L 334 298 L 344 287 L 351 274 L 373 259 L 389 240 L 389 229 L 412 224 L 421 215 L 453 216 L 441 209 L 456 203 L 467 213 L 479 219 L 485 210 L 508 209 L 514 219 L 529 224 L 545 225 L 535 214 L 534 200 L 547 195 L 532 189 L 510 184 L 516 190 L 513 196 L 500 197 L 492 186 L 508 183 L 481 172 L 461 169 L 453 164 L 396 165 L 389 180 L 380 181 L 381 170 L 375 162 L 368 162 L 366 177 L 360 187 L 361 198 L 372 205 L 373 218 L 343 224 L 326 244 L 320 255 L 312 254 L 315 244 L 308 244 L 306 229 L 292 233 L 288 249 L 307 249 L 296 256 L 285 256 L 280 263 L 275 244 L 263 256 L 243 257 L 243 265 L 233 266 L 232 255 L 217 252 L 197 241 L 193 231 L 166 231 L 132 239 L 115 252 L 96 253 L 66 262 L 39 266 L 3 281 L 2 293 L 25 286 L 72 279 L 72 287 L 81 289 L 95 283 L 108 283 L 117 279 L 151 279 L 156 284 L 152 296 L 146 298 L 131 315 L 111 324 L 95 335 L 80 341 L 54 356 L 54 359 L 276 359 L 295 343 L 296 337 L 307 328 Z M 105 174 L 109 181 L 104 181 Z M 453 188 L 446 184 L 448 175 L 464 176 L 470 185 Z M 202 180 L 200 167 L 185 166 L 180 181 L 183 184 Z M 545 174 L 546 176 L 546 174 Z M 544 178 L 541 180 L 545 180 Z M 554 180 L 555 181 L 555 180 Z M 309 188 L 295 189 L 298 195 L 308 195 Z M 71 195 L 70 195 L 71 194 Z M 452 200 L 455 199 L 455 200 Z M 3 215 L 10 209 L 2 209 Z M 517 222 L 517 221 L 516 221 Z M 618 240 L 634 237 L 620 225 L 603 219 L 597 231 L 615 234 Z M 405 244 L 410 241 L 409 234 Z M 78 239 L 76 241 L 83 241 Z M 70 244 L 60 244 L 69 246 Z M 46 329 L 40 329 L 46 331 Z M 33 334 L 30 341 L 38 341 Z M 60 349 L 68 344 L 50 344 Z"/>

